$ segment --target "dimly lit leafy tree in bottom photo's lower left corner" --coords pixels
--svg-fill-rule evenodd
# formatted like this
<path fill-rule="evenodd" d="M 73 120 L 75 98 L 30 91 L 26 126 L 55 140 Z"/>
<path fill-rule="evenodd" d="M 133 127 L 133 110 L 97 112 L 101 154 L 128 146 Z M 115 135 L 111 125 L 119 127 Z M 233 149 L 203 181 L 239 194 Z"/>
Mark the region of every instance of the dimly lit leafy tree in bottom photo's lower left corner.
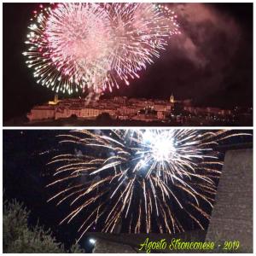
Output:
<path fill-rule="evenodd" d="M 28 225 L 30 212 L 16 200 L 3 206 L 3 253 L 84 253 L 78 244 L 65 250 L 50 230 Z"/>

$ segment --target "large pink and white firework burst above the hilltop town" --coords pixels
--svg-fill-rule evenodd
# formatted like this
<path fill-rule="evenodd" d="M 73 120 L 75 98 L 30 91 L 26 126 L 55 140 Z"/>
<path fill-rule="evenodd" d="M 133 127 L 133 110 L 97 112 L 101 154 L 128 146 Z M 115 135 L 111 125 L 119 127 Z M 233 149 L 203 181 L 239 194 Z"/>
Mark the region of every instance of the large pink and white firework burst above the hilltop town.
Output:
<path fill-rule="evenodd" d="M 35 11 L 26 64 L 38 84 L 72 94 L 139 78 L 177 34 L 177 16 L 157 3 L 57 3 Z"/>

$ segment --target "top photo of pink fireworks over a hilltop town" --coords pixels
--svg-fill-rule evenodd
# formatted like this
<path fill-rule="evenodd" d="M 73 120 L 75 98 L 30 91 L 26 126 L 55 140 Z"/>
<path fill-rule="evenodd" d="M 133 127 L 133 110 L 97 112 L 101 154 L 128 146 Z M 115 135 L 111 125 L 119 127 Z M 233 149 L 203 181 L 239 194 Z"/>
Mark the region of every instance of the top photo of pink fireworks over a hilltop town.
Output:
<path fill-rule="evenodd" d="M 253 3 L 3 3 L 4 126 L 252 126 Z"/>

